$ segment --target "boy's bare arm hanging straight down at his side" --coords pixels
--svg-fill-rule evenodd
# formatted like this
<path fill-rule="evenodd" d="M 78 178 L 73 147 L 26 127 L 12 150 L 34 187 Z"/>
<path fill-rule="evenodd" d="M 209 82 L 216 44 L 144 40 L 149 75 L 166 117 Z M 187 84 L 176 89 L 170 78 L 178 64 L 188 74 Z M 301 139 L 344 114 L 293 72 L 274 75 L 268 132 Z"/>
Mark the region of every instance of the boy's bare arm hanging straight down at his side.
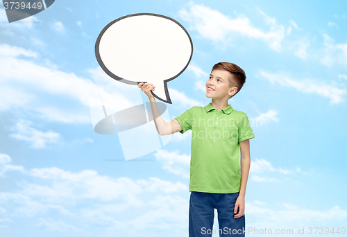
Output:
<path fill-rule="evenodd" d="M 241 186 L 239 191 L 239 197 L 235 202 L 234 218 L 240 218 L 244 216 L 244 196 L 246 195 L 246 185 L 248 179 L 249 168 L 251 166 L 251 155 L 249 149 L 249 139 L 246 139 L 239 143 L 241 150 Z M 239 208 L 239 213 L 237 209 Z"/>

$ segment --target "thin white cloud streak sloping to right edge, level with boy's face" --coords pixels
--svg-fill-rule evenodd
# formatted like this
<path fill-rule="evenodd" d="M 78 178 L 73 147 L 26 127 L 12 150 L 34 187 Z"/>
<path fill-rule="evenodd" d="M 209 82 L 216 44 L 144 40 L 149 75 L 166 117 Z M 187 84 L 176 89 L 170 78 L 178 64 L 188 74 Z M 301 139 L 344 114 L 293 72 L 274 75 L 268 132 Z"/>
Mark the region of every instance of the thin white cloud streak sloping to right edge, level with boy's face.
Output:
<path fill-rule="evenodd" d="M 346 89 L 340 89 L 334 85 L 327 84 L 319 80 L 313 80 L 305 78 L 303 80 L 294 80 L 287 76 L 286 73 L 269 73 L 266 71 L 260 71 L 260 76 L 269 80 L 272 84 L 278 83 L 283 87 L 292 87 L 297 91 L 306 94 L 316 94 L 330 99 L 331 104 L 338 104 L 344 101 L 346 96 Z"/>

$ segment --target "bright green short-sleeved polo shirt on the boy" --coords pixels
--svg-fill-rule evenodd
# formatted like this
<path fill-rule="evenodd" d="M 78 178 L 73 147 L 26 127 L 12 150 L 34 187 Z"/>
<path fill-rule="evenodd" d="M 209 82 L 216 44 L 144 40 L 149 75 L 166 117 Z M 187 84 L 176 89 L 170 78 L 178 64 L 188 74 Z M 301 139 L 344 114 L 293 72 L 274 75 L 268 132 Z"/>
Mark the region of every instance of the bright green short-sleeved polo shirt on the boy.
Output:
<path fill-rule="evenodd" d="M 175 118 L 192 130 L 189 191 L 237 193 L 241 184 L 239 142 L 254 137 L 244 112 L 194 106 Z"/>

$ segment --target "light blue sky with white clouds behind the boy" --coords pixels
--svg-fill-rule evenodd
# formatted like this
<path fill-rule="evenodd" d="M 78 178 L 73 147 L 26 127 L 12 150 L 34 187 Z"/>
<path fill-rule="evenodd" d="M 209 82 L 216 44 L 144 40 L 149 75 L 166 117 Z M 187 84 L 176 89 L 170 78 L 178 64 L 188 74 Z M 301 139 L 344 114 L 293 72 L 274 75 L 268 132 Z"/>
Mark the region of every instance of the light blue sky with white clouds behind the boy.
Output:
<path fill-rule="evenodd" d="M 176 19 L 194 44 L 189 67 L 168 83 L 170 120 L 210 103 L 204 85 L 216 62 L 246 71 L 229 100 L 255 134 L 246 227 L 305 227 L 307 236 L 309 227 L 346 228 L 346 9 L 346 1 L 57 0 L 8 24 L 1 6 L 1 236 L 188 236 L 191 133 L 173 134 L 142 161 L 120 161 L 117 134 L 93 130 L 98 89 L 118 83 L 108 103 L 134 103 L 99 67 L 96 38 L 141 12 Z"/>

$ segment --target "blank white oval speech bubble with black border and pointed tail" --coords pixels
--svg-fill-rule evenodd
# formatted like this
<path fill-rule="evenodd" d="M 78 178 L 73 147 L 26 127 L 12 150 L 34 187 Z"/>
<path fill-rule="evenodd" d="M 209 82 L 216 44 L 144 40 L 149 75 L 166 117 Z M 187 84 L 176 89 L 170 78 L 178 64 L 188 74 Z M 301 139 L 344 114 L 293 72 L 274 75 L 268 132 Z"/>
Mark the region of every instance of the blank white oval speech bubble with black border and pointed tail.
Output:
<path fill-rule="evenodd" d="M 167 82 L 187 69 L 193 43 L 187 30 L 163 15 L 139 13 L 110 22 L 95 44 L 96 60 L 110 77 L 155 85 L 155 98 L 171 104 Z"/>

